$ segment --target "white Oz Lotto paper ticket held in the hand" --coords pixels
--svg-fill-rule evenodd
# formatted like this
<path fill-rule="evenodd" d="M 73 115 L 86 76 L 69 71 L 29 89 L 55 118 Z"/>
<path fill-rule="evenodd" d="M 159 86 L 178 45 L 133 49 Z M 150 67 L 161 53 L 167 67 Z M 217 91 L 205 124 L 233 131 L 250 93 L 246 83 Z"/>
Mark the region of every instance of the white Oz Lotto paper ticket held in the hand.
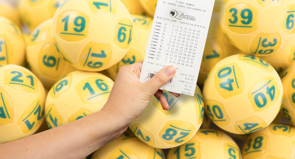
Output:
<path fill-rule="evenodd" d="M 168 65 L 177 72 L 161 89 L 193 96 L 215 0 L 158 0 L 140 81 Z"/>

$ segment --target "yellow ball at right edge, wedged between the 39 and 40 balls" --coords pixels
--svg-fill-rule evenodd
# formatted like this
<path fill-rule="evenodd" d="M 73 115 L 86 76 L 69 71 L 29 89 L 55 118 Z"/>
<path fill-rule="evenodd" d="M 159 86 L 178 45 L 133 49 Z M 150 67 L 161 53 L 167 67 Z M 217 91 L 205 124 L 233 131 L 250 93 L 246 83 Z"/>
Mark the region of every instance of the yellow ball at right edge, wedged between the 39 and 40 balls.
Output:
<path fill-rule="evenodd" d="M 281 74 L 295 60 L 295 38 L 284 49 L 261 58 Z"/>

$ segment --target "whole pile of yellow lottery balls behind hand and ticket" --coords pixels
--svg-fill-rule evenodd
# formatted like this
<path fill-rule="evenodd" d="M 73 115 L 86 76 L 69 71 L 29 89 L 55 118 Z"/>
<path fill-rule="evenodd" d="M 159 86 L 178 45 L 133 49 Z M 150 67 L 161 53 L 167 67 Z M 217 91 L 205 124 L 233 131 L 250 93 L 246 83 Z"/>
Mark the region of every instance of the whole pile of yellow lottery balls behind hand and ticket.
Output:
<path fill-rule="evenodd" d="M 0 143 L 100 111 L 144 60 L 156 4 L 1 0 Z M 215 0 L 194 96 L 151 97 L 92 158 L 294 158 L 294 21 L 294 0 Z"/>

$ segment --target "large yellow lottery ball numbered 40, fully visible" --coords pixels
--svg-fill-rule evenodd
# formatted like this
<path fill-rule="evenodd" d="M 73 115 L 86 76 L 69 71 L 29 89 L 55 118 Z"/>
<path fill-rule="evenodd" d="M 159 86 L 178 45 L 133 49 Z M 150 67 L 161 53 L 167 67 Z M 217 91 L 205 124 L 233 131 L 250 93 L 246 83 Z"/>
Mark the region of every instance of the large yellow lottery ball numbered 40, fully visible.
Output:
<path fill-rule="evenodd" d="M 220 128 L 236 134 L 257 132 L 277 116 L 283 86 L 261 58 L 238 54 L 218 62 L 204 84 L 205 112 Z"/>

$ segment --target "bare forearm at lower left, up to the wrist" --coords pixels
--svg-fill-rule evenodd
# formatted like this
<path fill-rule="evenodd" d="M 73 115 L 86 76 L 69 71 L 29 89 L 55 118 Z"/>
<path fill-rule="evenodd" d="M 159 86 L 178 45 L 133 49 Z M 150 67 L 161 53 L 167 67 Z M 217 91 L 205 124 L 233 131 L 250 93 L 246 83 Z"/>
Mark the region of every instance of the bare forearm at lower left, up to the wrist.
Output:
<path fill-rule="evenodd" d="M 118 137 L 127 129 L 120 116 L 105 111 L 77 121 L 0 145 L 3 158 L 81 159 Z"/>

